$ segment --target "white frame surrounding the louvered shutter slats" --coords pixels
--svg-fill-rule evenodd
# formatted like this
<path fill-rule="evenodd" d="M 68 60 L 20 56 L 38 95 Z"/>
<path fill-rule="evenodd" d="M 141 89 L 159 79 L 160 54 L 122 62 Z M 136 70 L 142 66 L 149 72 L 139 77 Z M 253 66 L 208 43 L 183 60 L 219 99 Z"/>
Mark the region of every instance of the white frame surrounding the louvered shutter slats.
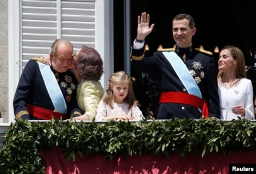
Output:
<path fill-rule="evenodd" d="M 14 122 L 13 98 L 22 72 L 22 41 L 21 41 L 21 1 L 8 1 L 8 122 Z M 30 1 L 30 0 L 28 0 Z M 40 0 L 31 0 L 40 1 Z M 41 0 L 42 1 L 42 0 Z M 53 0 L 65 1 L 65 0 Z M 76 0 L 68 0 L 76 1 Z M 114 43 L 113 41 L 113 1 L 95 1 L 95 49 L 99 51 L 104 61 L 104 74 L 100 83 L 105 89 L 107 79 L 114 71 Z M 50 50 L 50 48 L 49 48 Z"/>

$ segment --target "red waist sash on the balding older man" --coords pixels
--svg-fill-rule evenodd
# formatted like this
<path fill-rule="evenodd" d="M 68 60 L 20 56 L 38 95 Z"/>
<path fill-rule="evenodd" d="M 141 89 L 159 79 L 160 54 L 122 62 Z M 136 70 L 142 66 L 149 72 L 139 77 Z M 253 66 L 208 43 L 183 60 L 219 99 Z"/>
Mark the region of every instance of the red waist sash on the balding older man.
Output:
<path fill-rule="evenodd" d="M 26 106 L 28 108 L 29 115 L 33 115 L 43 120 L 51 120 L 51 118 L 60 120 L 61 117 L 62 117 L 62 120 L 67 119 L 67 114 L 57 113 L 56 110 L 46 110 L 45 108 L 40 108 L 38 106 L 30 105 L 30 104 L 27 104 Z"/>

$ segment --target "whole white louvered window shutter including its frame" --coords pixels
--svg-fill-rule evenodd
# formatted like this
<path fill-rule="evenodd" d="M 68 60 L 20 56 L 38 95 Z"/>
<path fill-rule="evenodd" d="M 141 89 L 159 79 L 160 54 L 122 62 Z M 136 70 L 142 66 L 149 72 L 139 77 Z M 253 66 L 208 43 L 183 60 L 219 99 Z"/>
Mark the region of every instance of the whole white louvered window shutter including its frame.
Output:
<path fill-rule="evenodd" d="M 104 60 L 100 83 L 105 88 L 114 69 L 112 0 L 9 0 L 8 1 L 9 122 L 14 121 L 13 97 L 29 59 L 50 53 L 57 38 L 99 51 Z"/>

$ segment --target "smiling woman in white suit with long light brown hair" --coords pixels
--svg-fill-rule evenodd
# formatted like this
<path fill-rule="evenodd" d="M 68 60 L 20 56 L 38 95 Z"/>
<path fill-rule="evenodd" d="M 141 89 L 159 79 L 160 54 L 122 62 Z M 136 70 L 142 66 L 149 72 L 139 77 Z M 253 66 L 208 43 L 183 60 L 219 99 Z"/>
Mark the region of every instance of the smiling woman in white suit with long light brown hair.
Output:
<path fill-rule="evenodd" d="M 225 46 L 218 59 L 218 95 L 221 120 L 253 120 L 253 87 L 247 79 L 245 57 L 240 48 Z"/>

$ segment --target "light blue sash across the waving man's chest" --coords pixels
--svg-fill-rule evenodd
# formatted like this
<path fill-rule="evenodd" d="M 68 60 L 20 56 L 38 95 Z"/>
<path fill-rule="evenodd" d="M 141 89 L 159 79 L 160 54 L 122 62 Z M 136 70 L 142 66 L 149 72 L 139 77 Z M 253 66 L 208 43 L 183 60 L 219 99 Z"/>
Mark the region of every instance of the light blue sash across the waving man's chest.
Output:
<path fill-rule="evenodd" d="M 183 63 L 181 58 L 179 58 L 179 56 L 173 51 L 165 51 L 162 53 L 164 54 L 166 59 L 168 59 L 171 66 L 173 66 L 174 71 L 178 75 L 181 82 L 184 84 L 188 93 L 191 95 L 198 96 L 199 98 L 202 98 L 201 91 L 198 88 L 195 79 L 193 79 L 193 77 L 188 71 L 188 68 Z"/>

